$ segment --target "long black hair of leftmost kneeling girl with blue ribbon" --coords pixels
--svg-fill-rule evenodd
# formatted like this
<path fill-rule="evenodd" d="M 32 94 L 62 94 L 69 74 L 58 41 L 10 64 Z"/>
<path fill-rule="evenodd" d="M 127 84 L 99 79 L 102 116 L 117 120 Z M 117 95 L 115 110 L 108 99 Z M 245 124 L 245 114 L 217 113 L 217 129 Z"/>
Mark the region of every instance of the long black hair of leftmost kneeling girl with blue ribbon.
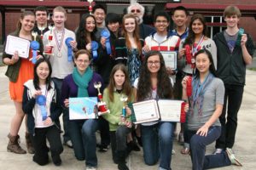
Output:
<path fill-rule="evenodd" d="M 41 63 L 47 63 L 48 67 L 49 67 L 49 75 L 48 77 L 46 78 L 46 87 L 48 87 L 47 90 L 49 90 L 51 87 L 50 87 L 50 81 L 51 81 L 51 72 L 52 72 L 52 68 L 51 68 L 51 65 L 49 63 L 49 59 L 45 59 L 45 58 L 41 58 L 41 59 L 38 59 L 38 61 L 36 62 L 36 64 L 34 65 L 34 79 L 33 79 L 33 84 L 34 84 L 34 87 L 39 90 L 41 89 L 39 87 L 39 77 L 38 77 L 38 73 L 37 73 L 37 68 L 38 66 L 41 64 Z"/>

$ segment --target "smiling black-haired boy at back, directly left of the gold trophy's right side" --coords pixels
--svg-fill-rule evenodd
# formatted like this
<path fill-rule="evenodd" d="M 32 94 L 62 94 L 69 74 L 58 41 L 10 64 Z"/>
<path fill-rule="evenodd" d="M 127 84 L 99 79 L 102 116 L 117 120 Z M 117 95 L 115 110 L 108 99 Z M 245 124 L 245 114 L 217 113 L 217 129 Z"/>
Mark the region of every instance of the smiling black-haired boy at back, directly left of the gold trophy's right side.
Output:
<path fill-rule="evenodd" d="M 92 14 L 94 15 L 96 20 L 96 40 L 99 41 L 101 38 L 102 30 L 106 28 L 106 26 L 104 25 L 104 20 L 106 18 L 107 9 L 102 4 L 96 4 L 92 9 Z"/>

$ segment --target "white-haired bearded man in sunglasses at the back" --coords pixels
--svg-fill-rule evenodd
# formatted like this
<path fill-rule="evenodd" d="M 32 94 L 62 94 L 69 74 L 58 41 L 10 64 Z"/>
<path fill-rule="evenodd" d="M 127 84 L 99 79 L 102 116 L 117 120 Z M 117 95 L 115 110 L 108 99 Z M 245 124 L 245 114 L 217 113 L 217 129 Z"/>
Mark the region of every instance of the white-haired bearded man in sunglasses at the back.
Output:
<path fill-rule="evenodd" d="M 139 24 L 139 29 L 140 29 L 140 38 L 145 39 L 150 35 L 151 32 L 154 31 L 154 28 L 152 26 L 148 26 L 143 24 L 143 15 L 145 12 L 145 8 L 143 5 L 139 3 L 132 3 L 128 8 L 127 8 L 127 13 L 128 14 L 134 14 L 137 17 L 137 21 Z"/>

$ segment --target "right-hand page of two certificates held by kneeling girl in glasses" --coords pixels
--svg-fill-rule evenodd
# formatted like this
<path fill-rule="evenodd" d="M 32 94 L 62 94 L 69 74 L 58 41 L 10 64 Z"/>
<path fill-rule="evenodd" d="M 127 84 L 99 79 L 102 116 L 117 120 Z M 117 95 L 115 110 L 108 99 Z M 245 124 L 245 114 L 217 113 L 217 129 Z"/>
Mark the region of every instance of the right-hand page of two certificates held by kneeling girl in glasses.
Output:
<path fill-rule="evenodd" d="M 183 106 L 182 100 L 160 99 L 157 103 L 161 121 L 180 122 Z"/>

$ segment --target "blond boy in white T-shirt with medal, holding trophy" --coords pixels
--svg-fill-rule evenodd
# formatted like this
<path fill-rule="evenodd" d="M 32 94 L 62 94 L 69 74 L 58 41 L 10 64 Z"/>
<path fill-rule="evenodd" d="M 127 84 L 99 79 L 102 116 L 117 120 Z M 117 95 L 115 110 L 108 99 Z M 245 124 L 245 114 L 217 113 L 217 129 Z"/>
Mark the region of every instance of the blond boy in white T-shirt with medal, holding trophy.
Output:
<path fill-rule="evenodd" d="M 67 75 L 73 72 L 73 61 L 68 61 L 67 59 L 67 45 L 65 40 L 67 37 L 72 37 L 75 40 L 75 34 L 73 31 L 67 30 L 65 28 L 65 21 L 67 20 L 67 12 L 65 8 L 58 6 L 53 9 L 52 20 L 54 21 L 55 28 L 52 32 L 47 31 L 44 33 L 44 47 L 47 49 L 47 44 L 49 43 L 48 37 L 52 33 L 53 38 L 51 41 L 51 45 L 53 46 L 53 56 L 49 57 L 49 62 L 52 65 L 52 80 L 55 82 L 56 87 L 61 92 L 62 81 Z M 73 50 L 76 50 L 77 42 L 71 41 L 70 45 Z M 65 110 L 63 110 L 65 112 Z M 63 126 L 64 126 L 64 144 L 67 144 L 68 147 L 73 147 L 72 142 L 70 140 L 67 128 L 68 122 L 68 114 L 63 114 Z"/>

